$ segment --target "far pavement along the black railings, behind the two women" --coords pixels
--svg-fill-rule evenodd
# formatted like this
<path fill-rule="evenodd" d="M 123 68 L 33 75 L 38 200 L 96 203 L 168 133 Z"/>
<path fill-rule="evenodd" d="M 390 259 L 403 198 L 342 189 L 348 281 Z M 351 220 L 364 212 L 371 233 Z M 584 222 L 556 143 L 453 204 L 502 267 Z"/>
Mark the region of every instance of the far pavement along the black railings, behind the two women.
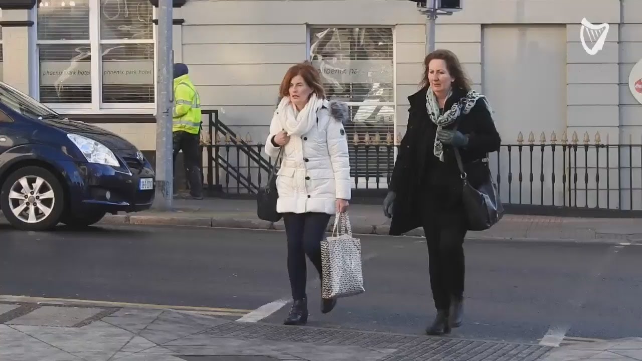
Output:
<path fill-rule="evenodd" d="M 194 225 L 241 229 L 284 229 L 283 222 L 265 222 L 256 215 L 256 201 L 225 198 L 188 200 L 177 198 L 173 211 L 144 211 L 107 215 L 105 224 Z M 1 214 L 0 214 L 1 216 Z M 352 232 L 387 235 L 390 220 L 381 206 L 352 204 Z M 330 224 L 331 226 L 331 224 Z M 423 236 L 415 229 L 407 236 Z M 578 218 L 560 216 L 505 215 L 487 231 L 467 234 L 474 240 L 549 240 L 632 243 L 642 245 L 642 222 L 636 218 Z"/>

